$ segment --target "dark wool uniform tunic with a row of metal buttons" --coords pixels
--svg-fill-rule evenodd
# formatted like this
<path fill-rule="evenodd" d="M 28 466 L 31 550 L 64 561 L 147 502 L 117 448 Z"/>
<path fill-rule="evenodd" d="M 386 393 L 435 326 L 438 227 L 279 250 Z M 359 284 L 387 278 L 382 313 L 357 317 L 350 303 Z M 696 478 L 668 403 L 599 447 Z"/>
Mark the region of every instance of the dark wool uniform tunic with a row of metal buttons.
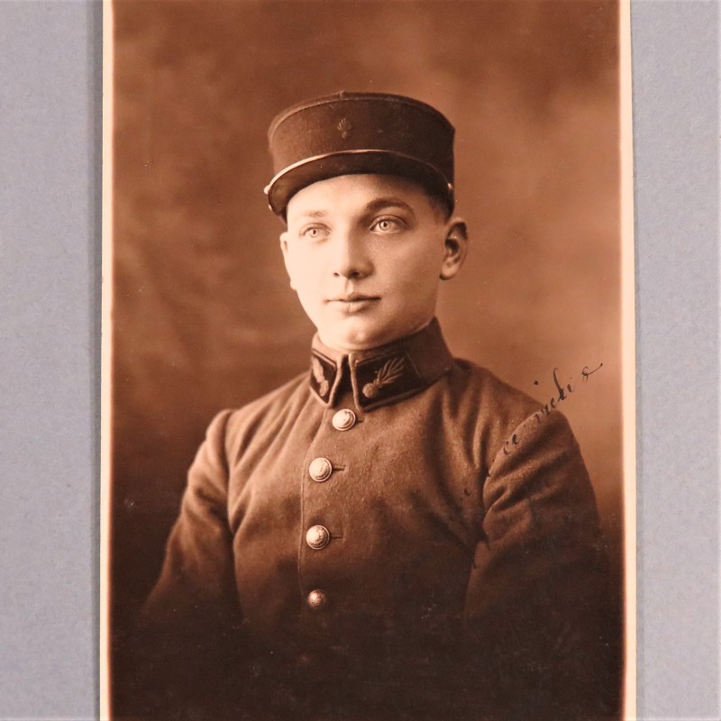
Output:
<path fill-rule="evenodd" d="M 435 321 L 348 355 L 316 338 L 310 375 L 197 453 L 145 607 L 153 716 L 595 718 L 599 555 L 561 413 Z"/>

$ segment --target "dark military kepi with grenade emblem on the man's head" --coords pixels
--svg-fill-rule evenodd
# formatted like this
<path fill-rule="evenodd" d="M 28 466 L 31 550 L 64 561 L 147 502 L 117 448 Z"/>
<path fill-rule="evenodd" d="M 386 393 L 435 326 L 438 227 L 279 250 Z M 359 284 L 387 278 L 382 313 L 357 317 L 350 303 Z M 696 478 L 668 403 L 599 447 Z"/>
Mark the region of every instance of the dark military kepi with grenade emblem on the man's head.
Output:
<path fill-rule="evenodd" d="M 268 132 L 270 209 L 285 215 L 298 190 L 339 175 L 411 178 L 453 208 L 453 126 L 431 105 L 383 93 L 337 93 L 285 110 Z"/>

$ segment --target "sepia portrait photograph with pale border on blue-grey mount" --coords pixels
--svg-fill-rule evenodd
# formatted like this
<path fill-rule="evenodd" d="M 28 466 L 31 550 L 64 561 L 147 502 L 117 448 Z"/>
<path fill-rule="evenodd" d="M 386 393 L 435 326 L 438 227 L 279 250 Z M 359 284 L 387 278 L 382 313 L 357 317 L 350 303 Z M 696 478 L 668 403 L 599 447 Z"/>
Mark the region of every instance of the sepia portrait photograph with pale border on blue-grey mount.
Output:
<path fill-rule="evenodd" d="M 627 3 L 104 14 L 101 716 L 634 718 Z"/>

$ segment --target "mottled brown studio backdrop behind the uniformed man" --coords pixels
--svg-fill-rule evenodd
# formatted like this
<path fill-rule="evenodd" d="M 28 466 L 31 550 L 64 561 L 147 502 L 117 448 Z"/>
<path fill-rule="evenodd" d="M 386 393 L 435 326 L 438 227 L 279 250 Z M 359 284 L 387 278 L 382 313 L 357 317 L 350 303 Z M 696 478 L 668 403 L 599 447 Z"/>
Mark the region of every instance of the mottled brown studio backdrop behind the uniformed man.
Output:
<path fill-rule="evenodd" d="M 415 96 L 455 125 L 472 244 L 442 288 L 447 340 L 543 402 L 554 368 L 575 385 L 561 406 L 620 573 L 616 27 L 616 4 L 591 0 L 116 0 L 115 639 L 160 570 L 206 424 L 306 368 L 266 130 L 342 89 Z"/>

